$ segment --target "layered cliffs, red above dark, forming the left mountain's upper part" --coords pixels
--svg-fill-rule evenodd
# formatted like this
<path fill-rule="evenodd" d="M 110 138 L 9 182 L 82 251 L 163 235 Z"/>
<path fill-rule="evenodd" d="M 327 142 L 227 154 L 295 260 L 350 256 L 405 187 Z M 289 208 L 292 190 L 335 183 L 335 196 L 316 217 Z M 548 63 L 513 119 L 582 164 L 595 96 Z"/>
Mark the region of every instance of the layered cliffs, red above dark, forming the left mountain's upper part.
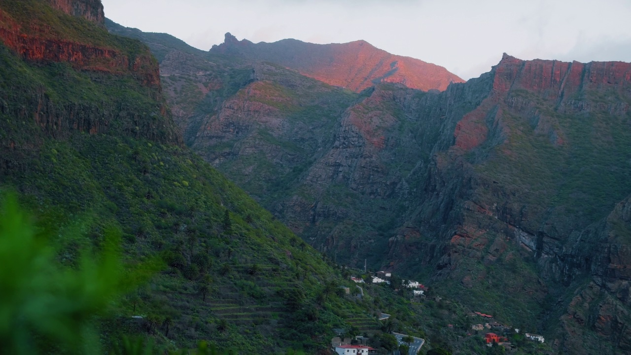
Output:
<path fill-rule="evenodd" d="M 88 19 L 100 11 L 102 21 L 100 1 L 53 5 L 71 6 L 71 13 Z M 20 165 L 46 138 L 76 131 L 182 141 L 149 49 L 76 16 L 38 0 L 0 5 L 0 114 L 6 117 L 0 173 Z"/>

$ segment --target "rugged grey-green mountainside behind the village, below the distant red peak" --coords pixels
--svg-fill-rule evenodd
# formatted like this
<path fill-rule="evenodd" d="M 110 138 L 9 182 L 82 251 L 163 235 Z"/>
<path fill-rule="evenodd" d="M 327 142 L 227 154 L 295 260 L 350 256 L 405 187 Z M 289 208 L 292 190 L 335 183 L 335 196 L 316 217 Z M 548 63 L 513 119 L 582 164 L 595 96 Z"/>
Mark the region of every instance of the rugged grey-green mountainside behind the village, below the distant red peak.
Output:
<path fill-rule="evenodd" d="M 629 350 L 631 64 L 505 54 L 443 92 L 354 92 L 272 45 L 167 54 L 187 145 L 338 262 L 425 280 L 559 352 Z"/>

